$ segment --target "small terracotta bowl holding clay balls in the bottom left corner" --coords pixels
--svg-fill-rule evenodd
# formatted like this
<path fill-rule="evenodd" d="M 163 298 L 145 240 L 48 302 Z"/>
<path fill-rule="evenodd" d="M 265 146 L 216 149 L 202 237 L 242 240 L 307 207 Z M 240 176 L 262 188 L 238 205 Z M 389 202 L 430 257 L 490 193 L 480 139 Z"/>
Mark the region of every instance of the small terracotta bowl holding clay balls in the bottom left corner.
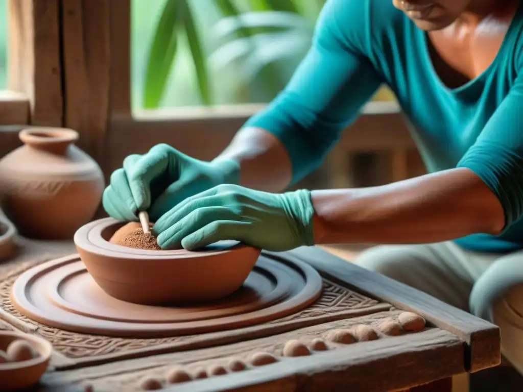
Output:
<path fill-rule="evenodd" d="M 0 363 L 0 390 L 18 390 L 38 383 L 47 370 L 53 347 L 47 340 L 26 333 L 0 331 L 0 350 L 14 340 L 25 340 L 38 352 L 37 358 L 22 362 Z"/>

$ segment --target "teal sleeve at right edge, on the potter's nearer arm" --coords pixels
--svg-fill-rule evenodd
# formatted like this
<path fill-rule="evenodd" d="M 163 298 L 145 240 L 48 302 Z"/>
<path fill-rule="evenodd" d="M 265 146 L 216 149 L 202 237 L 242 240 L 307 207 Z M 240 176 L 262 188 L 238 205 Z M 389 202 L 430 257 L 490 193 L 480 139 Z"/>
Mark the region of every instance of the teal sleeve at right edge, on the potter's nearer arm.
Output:
<path fill-rule="evenodd" d="M 523 74 L 458 163 L 479 176 L 505 212 L 506 230 L 523 216 Z"/>

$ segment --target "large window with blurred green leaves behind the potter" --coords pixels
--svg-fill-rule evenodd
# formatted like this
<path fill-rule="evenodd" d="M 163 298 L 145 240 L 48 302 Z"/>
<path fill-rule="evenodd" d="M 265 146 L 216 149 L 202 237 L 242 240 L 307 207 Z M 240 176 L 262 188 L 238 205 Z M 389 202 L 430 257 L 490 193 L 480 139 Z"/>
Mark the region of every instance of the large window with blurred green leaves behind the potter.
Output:
<path fill-rule="evenodd" d="M 309 49 L 323 3 L 131 0 L 132 108 L 269 102 Z"/>

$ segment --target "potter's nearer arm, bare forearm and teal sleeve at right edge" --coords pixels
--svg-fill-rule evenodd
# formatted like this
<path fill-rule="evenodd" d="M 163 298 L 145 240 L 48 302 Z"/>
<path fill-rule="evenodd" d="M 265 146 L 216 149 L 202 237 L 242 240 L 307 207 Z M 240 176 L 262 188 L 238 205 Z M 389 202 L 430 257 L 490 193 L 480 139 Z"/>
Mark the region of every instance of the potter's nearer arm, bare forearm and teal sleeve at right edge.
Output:
<path fill-rule="evenodd" d="M 457 166 L 381 187 L 313 191 L 315 243 L 498 235 L 523 216 L 523 74 Z"/>

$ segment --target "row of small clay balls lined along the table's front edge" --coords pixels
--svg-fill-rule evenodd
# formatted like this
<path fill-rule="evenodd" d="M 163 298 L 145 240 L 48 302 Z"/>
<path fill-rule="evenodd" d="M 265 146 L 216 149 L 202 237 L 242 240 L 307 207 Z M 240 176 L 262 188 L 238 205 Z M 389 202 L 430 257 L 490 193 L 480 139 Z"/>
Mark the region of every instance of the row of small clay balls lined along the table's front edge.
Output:
<path fill-rule="evenodd" d="M 397 336 L 400 335 L 401 330 L 413 332 L 425 328 L 425 319 L 414 313 L 403 312 L 399 315 L 398 321 L 388 319 L 378 325 L 377 330 L 385 335 Z M 350 344 L 354 342 L 362 342 L 378 339 L 376 330 L 371 326 L 365 324 L 356 325 L 350 329 L 336 329 L 328 331 L 325 334 L 325 340 Z M 327 344 L 323 339 L 314 339 L 309 345 L 306 345 L 299 340 L 289 340 L 282 350 L 282 355 L 287 357 L 310 355 L 313 351 L 328 350 Z M 247 361 L 240 359 L 232 359 L 227 366 L 211 365 L 208 368 L 197 368 L 194 372 L 189 373 L 181 367 L 174 367 L 165 374 L 166 384 L 178 384 L 192 381 L 195 379 L 207 378 L 210 376 L 220 376 L 228 374 L 229 372 L 241 372 L 247 370 L 250 366 L 264 366 L 277 362 L 276 356 L 266 353 L 258 352 L 253 354 Z M 163 381 L 159 378 L 145 376 L 140 382 L 140 387 L 143 390 L 156 390 L 163 388 Z"/>

